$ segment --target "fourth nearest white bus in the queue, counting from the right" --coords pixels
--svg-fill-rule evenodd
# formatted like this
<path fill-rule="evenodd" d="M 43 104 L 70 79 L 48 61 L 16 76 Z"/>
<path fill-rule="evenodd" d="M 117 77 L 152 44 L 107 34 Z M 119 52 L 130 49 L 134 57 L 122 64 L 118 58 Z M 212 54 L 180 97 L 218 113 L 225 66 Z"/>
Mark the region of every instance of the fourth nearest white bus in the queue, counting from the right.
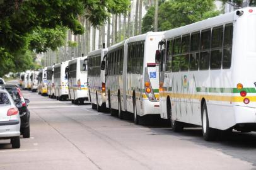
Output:
<path fill-rule="evenodd" d="M 69 60 L 65 71 L 69 84 L 69 99 L 76 105 L 88 100 L 88 71 L 87 67 L 83 67 L 84 65 L 87 65 L 87 56 Z"/>

